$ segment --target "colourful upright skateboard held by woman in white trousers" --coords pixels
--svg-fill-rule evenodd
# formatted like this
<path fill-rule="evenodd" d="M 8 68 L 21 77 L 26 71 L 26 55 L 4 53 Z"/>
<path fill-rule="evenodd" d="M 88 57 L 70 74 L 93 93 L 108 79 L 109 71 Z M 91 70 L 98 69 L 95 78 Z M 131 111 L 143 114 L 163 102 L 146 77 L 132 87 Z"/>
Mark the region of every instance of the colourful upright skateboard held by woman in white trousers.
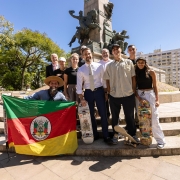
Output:
<path fill-rule="evenodd" d="M 139 103 L 138 106 L 139 130 L 141 133 L 140 142 L 145 146 L 152 144 L 152 123 L 151 107 L 147 100 Z"/>

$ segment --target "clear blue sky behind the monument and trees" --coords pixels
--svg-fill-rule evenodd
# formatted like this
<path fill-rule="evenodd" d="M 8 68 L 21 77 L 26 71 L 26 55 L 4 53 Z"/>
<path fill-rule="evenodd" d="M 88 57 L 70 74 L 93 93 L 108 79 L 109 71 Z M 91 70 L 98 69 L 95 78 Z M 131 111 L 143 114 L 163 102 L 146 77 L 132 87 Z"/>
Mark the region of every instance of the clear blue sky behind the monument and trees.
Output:
<path fill-rule="evenodd" d="M 180 48 L 180 0 L 111 0 L 113 30 L 127 31 L 126 41 L 138 52 L 152 53 L 155 49 Z M 0 15 L 14 24 L 15 32 L 29 28 L 46 33 L 61 49 L 68 46 L 79 26 L 78 15 L 84 10 L 84 0 L 0 0 Z M 72 48 L 77 47 L 77 40 Z"/>

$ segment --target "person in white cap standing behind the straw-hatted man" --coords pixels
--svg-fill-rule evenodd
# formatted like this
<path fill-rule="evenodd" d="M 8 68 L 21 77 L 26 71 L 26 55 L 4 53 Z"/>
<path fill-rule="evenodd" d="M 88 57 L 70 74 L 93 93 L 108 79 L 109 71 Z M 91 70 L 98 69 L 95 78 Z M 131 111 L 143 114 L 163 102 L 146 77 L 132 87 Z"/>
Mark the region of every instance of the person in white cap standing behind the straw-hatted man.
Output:
<path fill-rule="evenodd" d="M 54 71 L 54 76 L 58 76 L 64 80 L 64 71 L 66 70 L 66 59 L 64 57 L 60 57 L 58 60 L 59 69 Z M 64 92 L 64 86 L 58 88 L 58 91 Z"/>

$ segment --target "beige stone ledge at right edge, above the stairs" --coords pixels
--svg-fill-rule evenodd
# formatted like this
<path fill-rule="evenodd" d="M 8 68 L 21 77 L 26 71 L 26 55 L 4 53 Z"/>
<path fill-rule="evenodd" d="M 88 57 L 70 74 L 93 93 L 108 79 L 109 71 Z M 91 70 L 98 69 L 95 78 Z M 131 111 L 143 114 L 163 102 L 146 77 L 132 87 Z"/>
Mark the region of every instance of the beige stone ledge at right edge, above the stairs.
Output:
<path fill-rule="evenodd" d="M 159 92 L 160 103 L 180 102 L 180 91 Z"/>

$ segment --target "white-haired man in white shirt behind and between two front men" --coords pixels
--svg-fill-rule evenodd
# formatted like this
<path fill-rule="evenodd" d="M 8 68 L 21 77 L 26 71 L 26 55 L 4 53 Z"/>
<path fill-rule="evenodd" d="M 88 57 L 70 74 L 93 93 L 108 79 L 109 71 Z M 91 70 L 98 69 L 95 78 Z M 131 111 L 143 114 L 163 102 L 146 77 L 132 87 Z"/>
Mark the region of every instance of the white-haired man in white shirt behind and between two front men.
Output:
<path fill-rule="evenodd" d="M 112 62 L 113 60 L 109 59 L 109 50 L 104 48 L 102 49 L 102 60 L 99 61 L 99 63 L 103 66 L 104 71 L 106 70 L 106 66 Z M 106 88 L 106 81 L 103 81 L 103 86 Z M 106 96 L 106 112 L 107 112 L 107 118 L 108 118 L 108 122 L 109 124 L 109 117 L 110 117 L 110 111 L 109 111 L 109 98 L 108 98 L 108 94 L 105 92 L 105 96 Z"/>

